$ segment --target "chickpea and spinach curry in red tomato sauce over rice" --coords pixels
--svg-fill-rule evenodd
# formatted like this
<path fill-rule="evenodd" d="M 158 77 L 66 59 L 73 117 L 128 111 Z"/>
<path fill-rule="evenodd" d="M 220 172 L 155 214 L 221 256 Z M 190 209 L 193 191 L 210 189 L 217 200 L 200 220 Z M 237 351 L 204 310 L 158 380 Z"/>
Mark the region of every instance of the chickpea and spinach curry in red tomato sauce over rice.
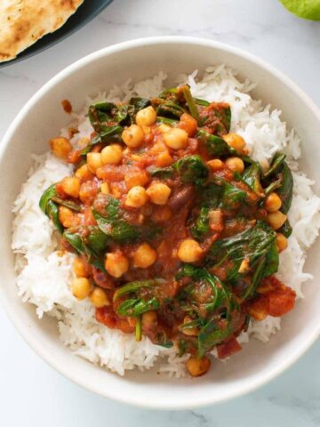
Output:
<path fill-rule="evenodd" d="M 40 200 L 61 249 L 77 254 L 71 291 L 101 324 L 174 345 L 203 375 L 212 350 L 220 359 L 241 350 L 251 318 L 294 306 L 274 276 L 292 232 L 285 156 L 262 169 L 230 133 L 230 106 L 196 99 L 188 85 L 97 102 L 88 116 L 90 139 L 50 141 L 74 173 Z"/>

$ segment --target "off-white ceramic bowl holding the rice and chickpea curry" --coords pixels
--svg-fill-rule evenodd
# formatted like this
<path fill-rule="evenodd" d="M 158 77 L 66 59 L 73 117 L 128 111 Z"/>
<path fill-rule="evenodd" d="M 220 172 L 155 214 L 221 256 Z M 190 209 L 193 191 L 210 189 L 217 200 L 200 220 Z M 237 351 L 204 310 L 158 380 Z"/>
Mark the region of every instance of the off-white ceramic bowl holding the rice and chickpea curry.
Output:
<path fill-rule="evenodd" d="M 140 407 L 165 409 L 210 405 L 235 398 L 268 382 L 292 365 L 316 340 L 320 331 L 320 240 L 308 254 L 306 270 L 314 279 L 304 286 L 306 298 L 282 322 L 268 344 L 252 340 L 228 363 L 213 365 L 202 378 L 168 379 L 155 372 L 129 372 L 124 377 L 72 355 L 58 338 L 56 321 L 38 320 L 35 307 L 17 296 L 13 270 L 12 203 L 26 180 L 32 153 L 48 149 L 47 141 L 68 123 L 60 101 L 80 109 L 84 97 L 120 84 L 131 77 L 143 79 L 164 70 L 169 77 L 212 63 L 225 63 L 258 83 L 253 96 L 283 110 L 283 119 L 302 139 L 301 168 L 320 182 L 320 114 L 300 88 L 265 62 L 226 44 L 189 37 L 145 38 L 116 44 L 92 53 L 61 71 L 20 111 L 4 136 L 0 151 L 0 296 L 17 330 L 36 352 L 61 374 L 102 396 Z M 170 84 L 170 82 L 169 82 Z M 319 189 L 319 185 L 316 186 Z"/>

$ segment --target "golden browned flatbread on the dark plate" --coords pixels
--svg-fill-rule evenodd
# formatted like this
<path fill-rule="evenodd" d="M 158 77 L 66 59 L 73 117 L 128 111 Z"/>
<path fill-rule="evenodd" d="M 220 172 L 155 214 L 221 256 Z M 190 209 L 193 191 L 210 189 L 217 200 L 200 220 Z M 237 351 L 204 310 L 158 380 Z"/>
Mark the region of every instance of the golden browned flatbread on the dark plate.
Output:
<path fill-rule="evenodd" d="M 84 0 L 0 0 L 0 62 L 60 28 Z"/>

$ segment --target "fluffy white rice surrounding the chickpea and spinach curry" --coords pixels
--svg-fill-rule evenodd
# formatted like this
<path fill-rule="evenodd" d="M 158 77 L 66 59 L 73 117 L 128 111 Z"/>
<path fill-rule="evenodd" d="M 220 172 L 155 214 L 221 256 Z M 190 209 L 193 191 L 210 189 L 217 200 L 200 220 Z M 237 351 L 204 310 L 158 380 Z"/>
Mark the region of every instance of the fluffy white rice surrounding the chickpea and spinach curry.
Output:
<path fill-rule="evenodd" d="M 232 108 L 232 132 L 241 134 L 251 150 L 251 156 L 267 165 L 276 151 L 284 151 L 292 168 L 294 190 L 289 219 L 293 232 L 289 247 L 280 255 L 277 276 L 287 286 L 303 297 L 301 286 L 311 275 L 303 271 L 306 251 L 315 241 L 320 228 L 320 198 L 312 191 L 314 181 L 299 171 L 300 139 L 288 131 L 281 121 L 281 111 L 263 107 L 261 101 L 252 100 L 250 91 L 255 86 L 249 81 L 241 83 L 236 73 L 224 65 L 207 68 L 203 79 L 180 76 L 177 83 L 188 82 L 192 93 L 207 101 L 226 101 Z M 84 111 L 76 115 L 71 125 L 80 131 L 72 142 L 89 137 L 92 127 L 85 113 L 92 101 L 126 101 L 131 96 L 156 96 L 164 88 L 166 76 L 160 72 L 148 80 L 133 84 L 127 81 L 113 87 L 109 93 L 99 93 L 95 99 L 87 99 Z M 68 136 L 67 129 L 61 134 Z M 44 313 L 57 318 L 60 339 L 76 355 L 99 364 L 101 367 L 124 375 L 126 369 L 140 370 L 153 367 L 160 360 L 159 371 L 180 377 L 185 375 L 184 361 L 176 350 L 164 349 L 143 338 L 136 342 L 132 334 L 123 334 L 100 325 L 94 318 L 89 302 L 78 302 L 69 290 L 73 276 L 73 254 L 60 256 L 57 251 L 59 236 L 47 217 L 38 207 L 44 189 L 70 173 L 70 166 L 60 162 L 50 153 L 34 157 L 34 165 L 28 173 L 20 195 L 14 203 L 12 250 L 16 256 L 18 292 L 23 301 L 36 305 L 39 318 Z M 239 342 L 247 342 L 249 335 L 268 342 L 271 334 L 280 329 L 280 318 L 268 317 L 262 322 L 252 321 L 249 330 L 240 335 Z"/>

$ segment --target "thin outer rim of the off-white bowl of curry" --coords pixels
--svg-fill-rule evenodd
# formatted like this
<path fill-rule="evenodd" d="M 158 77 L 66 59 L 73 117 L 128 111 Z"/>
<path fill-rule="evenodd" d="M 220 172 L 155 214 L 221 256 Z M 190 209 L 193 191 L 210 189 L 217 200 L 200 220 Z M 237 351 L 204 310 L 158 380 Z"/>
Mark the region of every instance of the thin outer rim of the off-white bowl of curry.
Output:
<path fill-rule="evenodd" d="M 296 85 L 290 78 L 284 76 L 283 73 L 278 71 L 276 68 L 270 66 L 267 62 L 264 60 L 260 60 L 259 58 L 255 57 L 254 55 L 244 52 L 234 46 L 230 46 L 228 44 L 222 44 L 220 42 L 215 42 L 209 39 L 203 39 L 203 38 L 197 38 L 197 37 L 188 37 L 188 36 L 159 36 L 159 37 L 148 37 L 148 38 L 139 38 L 132 41 L 120 43 L 111 45 L 109 47 L 103 48 L 100 51 L 93 52 L 87 56 L 85 56 L 81 60 L 77 60 L 75 63 L 71 64 L 67 68 L 63 69 L 58 73 L 55 77 L 52 77 L 52 79 L 46 83 L 42 88 L 40 88 L 35 95 L 32 96 L 32 98 L 25 104 L 25 106 L 20 110 L 20 113 L 15 117 L 15 119 L 12 121 L 12 124 L 9 126 L 7 132 L 4 134 L 3 141 L 0 145 L 0 162 L 2 157 L 4 156 L 4 151 L 10 142 L 12 138 L 12 134 L 14 133 L 14 130 L 19 127 L 20 122 L 22 121 L 22 118 L 26 116 L 28 113 L 28 109 L 31 109 L 32 106 L 34 106 L 37 101 L 39 101 L 44 93 L 50 91 L 52 87 L 57 85 L 61 80 L 63 80 L 65 77 L 68 77 L 72 73 L 74 73 L 77 69 L 83 68 L 86 64 L 92 62 L 92 60 L 97 60 L 101 57 L 104 57 L 105 55 L 108 55 L 110 53 L 114 52 L 121 52 L 126 51 L 135 47 L 143 46 L 143 45 L 156 45 L 156 44 L 191 44 L 191 45 L 204 45 L 212 48 L 218 48 L 220 50 L 223 50 L 225 52 L 229 52 L 232 54 L 235 54 L 237 56 L 240 56 L 244 58 L 245 60 L 251 61 L 252 63 L 255 63 L 260 66 L 260 68 L 264 68 L 276 77 L 278 80 L 281 81 L 281 83 L 285 86 L 287 86 L 293 93 L 296 93 L 297 96 L 300 97 L 302 101 L 305 102 L 305 104 L 308 105 L 308 109 L 313 111 L 313 114 L 320 122 L 320 110 L 316 107 L 316 104 L 308 97 L 306 93 L 304 93 L 298 85 Z M 72 380 L 74 383 L 78 383 L 84 388 L 89 389 L 93 392 L 96 392 L 97 394 L 101 394 L 101 391 L 99 387 L 95 387 L 92 383 L 87 383 L 82 378 L 79 378 L 78 376 L 74 375 L 72 370 L 68 370 L 68 368 L 63 367 L 63 364 L 60 364 L 55 358 L 54 355 L 52 355 L 50 352 L 48 352 L 46 349 L 44 349 L 41 345 L 39 345 L 36 340 L 33 339 L 32 334 L 28 330 L 28 326 L 23 324 L 20 321 L 20 318 L 15 316 L 15 313 L 13 310 L 11 310 L 11 304 L 9 298 L 5 296 L 5 294 L 0 289 L 0 301 L 2 303 L 2 306 L 4 307 L 4 310 L 6 311 L 8 317 L 11 319 L 12 324 L 16 327 L 18 332 L 21 334 L 21 336 L 24 338 L 26 342 L 28 342 L 29 346 L 36 351 L 36 353 L 44 359 L 50 366 L 52 366 L 54 369 L 56 369 L 60 374 L 65 375 L 68 377 L 68 379 Z M 294 353 L 288 357 L 286 363 L 283 363 L 282 365 L 279 365 L 272 371 L 268 372 L 265 375 L 258 376 L 254 378 L 251 382 L 244 383 L 244 387 L 240 389 L 236 389 L 236 391 L 233 391 L 228 396 L 228 399 L 236 398 L 238 396 L 244 395 L 245 393 L 249 391 L 253 391 L 260 387 L 264 383 L 268 383 L 268 381 L 272 380 L 276 377 L 276 375 L 279 375 L 281 372 L 283 372 L 286 368 L 290 367 L 297 359 L 300 358 L 300 356 L 308 350 L 308 348 L 312 345 L 313 342 L 316 341 L 317 337 L 320 334 L 320 324 L 317 326 L 317 329 L 314 330 L 313 334 L 310 334 L 308 336 L 308 340 L 306 340 L 304 347 L 298 348 L 295 350 Z M 121 391 L 104 391 L 104 396 L 108 397 L 109 399 L 116 399 L 117 401 L 128 403 L 134 406 L 138 407 L 148 407 L 148 408 L 157 408 L 157 409 L 184 409 L 188 408 L 186 406 L 180 405 L 177 407 L 175 405 L 174 401 L 171 405 L 166 404 L 165 406 L 158 402 L 155 404 L 154 402 L 148 402 L 143 401 L 141 402 L 139 396 L 134 396 L 132 394 L 131 396 L 125 395 L 123 396 Z M 195 399 L 196 400 L 196 399 Z M 215 399 L 214 402 L 212 402 L 212 399 L 210 396 L 208 396 L 206 399 L 202 399 L 201 401 L 195 401 L 195 405 L 193 407 L 203 407 L 207 405 L 211 405 L 212 403 L 217 403 L 219 401 L 226 400 L 226 398 L 222 399 Z"/>

